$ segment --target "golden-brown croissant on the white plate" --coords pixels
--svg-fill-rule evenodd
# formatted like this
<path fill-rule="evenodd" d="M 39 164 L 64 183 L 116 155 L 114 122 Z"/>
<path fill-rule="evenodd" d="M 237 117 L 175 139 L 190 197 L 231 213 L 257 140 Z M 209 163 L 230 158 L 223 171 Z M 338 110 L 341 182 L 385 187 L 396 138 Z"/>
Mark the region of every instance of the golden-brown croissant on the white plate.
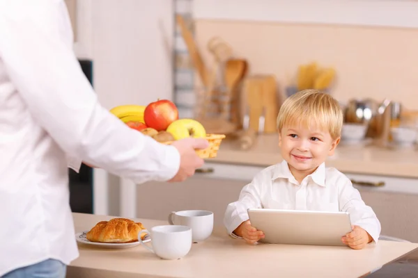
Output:
<path fill-rule="evenodd" d="M 86 238 L 95 243 L 132 243 L 138 241 L 138 233 L 143 229 L 144 226 L 140 222 L 114 218 L 95 224 L 95 227 L 86 234 Z M 146 233 L 142 233 L 141 239 L 145 236 Z"/>

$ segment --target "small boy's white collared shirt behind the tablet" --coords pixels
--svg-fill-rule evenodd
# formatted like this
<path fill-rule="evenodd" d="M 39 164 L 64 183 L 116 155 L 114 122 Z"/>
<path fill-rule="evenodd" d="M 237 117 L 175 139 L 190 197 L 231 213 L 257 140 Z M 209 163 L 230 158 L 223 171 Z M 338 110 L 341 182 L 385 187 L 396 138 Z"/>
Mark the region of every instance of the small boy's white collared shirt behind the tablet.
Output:
<path fill-rule="evenodd" d="M 375 242 L 380 222 L 370 206 L 364 204 L 350 179 L 333 167 L 321 164 L 315 172 L 298 183 L 288 163 L 265 168 L 244 188 L 237 202 L 228 205 L 224 224 L 229 234 L 248 220 L 248 208 L 275 208 L 300 211 L 346 211 L 351 224 L 365 229 Z"/>

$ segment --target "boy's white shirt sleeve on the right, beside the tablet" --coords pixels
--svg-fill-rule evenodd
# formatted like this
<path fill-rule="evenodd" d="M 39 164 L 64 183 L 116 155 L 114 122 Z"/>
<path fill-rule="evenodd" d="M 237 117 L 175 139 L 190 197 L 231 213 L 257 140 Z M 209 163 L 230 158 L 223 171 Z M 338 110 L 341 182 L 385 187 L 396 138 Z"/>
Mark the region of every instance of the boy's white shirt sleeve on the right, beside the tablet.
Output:
<path fill-rule="evenodd" d="M 349 179 L 339 188 L 340 211 L 350 213 L 351 224 L 362 227 L 377 243 L 380 236 L 380 221 L 370 206 L 367 206 L 359 191 L 353 187 Z"/>

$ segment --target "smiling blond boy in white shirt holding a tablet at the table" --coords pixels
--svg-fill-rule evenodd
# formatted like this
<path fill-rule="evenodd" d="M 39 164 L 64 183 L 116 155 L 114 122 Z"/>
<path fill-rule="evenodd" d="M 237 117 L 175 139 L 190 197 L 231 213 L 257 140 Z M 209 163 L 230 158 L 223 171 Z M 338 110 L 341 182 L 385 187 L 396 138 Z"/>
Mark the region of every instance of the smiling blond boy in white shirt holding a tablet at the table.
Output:
<path fill-rule="evenodd" d="M 338 102 L 318 90 L 303 90 L 284 101 L 277 116 L 282 163 L 265 168 L 228 205 L 224 224 L 229 234 L 254 244 L 263 231 L 251 227 L 248 208 L 346 211 L 353 231 L 341 241 L 362 249 L 378 241 L 380 222 L 364 204 L 350 179 L 333 167 L 327 156 L 339 144 L 343 115 Z"/>

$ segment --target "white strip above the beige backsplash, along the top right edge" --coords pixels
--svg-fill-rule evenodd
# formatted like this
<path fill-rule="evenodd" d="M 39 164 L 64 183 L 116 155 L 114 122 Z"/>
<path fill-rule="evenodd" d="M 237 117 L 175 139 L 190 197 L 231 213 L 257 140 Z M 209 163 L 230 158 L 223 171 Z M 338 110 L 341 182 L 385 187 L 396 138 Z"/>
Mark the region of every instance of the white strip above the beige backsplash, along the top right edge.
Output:
<path fill-rule="evenodd" d="M 194 0 L 196 19 L 418 27 L 417 0 Z"/>

